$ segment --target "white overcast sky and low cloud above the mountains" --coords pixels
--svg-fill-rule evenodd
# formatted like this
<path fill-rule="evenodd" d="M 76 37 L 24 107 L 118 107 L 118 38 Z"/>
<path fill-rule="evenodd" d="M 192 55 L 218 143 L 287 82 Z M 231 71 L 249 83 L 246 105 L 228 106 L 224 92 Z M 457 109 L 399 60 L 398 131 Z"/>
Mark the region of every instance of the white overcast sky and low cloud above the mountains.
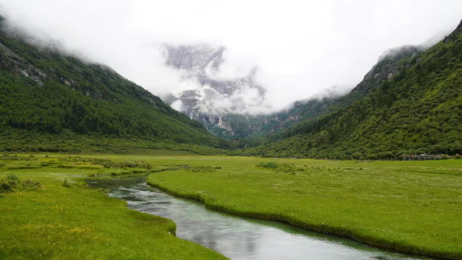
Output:
<path fill-rule="evenodd" d="M 0 14 L 157 95 L 175 92 L 181 77 L 159 46 L 225 46 L 221 75 L 261 68 L 262 112 L 352 89 L 385 50 L 449 34 L 462 1 L 0 0 Z"/>

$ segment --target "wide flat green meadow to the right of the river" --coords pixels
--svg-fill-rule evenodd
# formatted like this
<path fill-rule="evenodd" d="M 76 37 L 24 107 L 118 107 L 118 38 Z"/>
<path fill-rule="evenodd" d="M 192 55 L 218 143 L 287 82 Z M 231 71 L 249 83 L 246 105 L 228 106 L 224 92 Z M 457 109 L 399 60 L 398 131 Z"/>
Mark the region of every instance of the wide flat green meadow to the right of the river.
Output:
<path fill-rule="evenodd" d="M 164 160 L 194 167 L 154 173 L 147 182 L 209 208 L 411 253 L 462 258 L 462 160 Z M 273 161 L 277 168 L 256 167 Z"/>

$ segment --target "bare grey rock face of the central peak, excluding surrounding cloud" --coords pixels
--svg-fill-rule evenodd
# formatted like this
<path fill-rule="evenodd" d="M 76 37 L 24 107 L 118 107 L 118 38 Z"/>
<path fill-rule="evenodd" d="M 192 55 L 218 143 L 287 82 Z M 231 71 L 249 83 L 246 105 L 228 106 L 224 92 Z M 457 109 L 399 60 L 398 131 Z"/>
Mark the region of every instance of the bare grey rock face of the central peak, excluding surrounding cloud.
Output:
<path fill-rule="evenodd" d="M 213 48 L 208 45 L 172 46 L 165 45 L 165 65 L 184 72 L 182 83 L 191 89 L 172 93 L 164 98 L 167 104 L 181 101 L 181 112 L 201 122 L 207 129 L 214 126 L 226 129 L 229 135 L 233 131 L 223 123 L 223 114 L 241 110 L 245 104 L 232 102 L 230 107 L 217 106 L 224 99 L 239 99 L 234 96 L 245 89 L 256 89 L 263 97 L 265 89 L 256 84 L 254 76 L 258 67 L 254 67 L 247 76 L 232 80 L 218 80 L 210 75 L 223 64 L 224 47 Z"/>

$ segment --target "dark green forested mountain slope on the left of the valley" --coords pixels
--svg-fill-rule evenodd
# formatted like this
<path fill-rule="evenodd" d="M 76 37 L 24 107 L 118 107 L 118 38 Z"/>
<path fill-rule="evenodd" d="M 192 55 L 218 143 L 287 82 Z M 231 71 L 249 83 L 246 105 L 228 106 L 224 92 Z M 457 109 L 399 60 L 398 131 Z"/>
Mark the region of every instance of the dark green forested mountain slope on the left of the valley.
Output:
<path fill-rule="evenodd" d="M 2 21 L 0 27 L 0 150 L 24 149 L 25 139 L 31 143 L 27 150 L 60 150 L 37 141 L 43 136 L 52 141 L 104 136 L 228 147 L 199 122 L 110 68 L 36 47 L 6 24 Z"/>

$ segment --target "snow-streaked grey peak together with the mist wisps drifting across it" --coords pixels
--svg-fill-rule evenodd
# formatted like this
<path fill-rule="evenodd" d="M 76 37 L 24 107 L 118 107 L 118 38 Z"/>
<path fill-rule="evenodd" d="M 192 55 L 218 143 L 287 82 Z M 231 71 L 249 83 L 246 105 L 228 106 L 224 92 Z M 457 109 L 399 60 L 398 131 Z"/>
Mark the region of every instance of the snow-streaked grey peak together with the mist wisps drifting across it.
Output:
<path fill-rule="evenodd" d="M 166 45 L 165 48 L 165 64 L 182 75 L 179 90 L 164 97 L 175 109 L 198 121 L 223 113 L 263 112 L 265 89 L 254 79 L 258 67 L 243 77 L 222 78 L 217 74 L 223 65 L 224 47 Z"/>

